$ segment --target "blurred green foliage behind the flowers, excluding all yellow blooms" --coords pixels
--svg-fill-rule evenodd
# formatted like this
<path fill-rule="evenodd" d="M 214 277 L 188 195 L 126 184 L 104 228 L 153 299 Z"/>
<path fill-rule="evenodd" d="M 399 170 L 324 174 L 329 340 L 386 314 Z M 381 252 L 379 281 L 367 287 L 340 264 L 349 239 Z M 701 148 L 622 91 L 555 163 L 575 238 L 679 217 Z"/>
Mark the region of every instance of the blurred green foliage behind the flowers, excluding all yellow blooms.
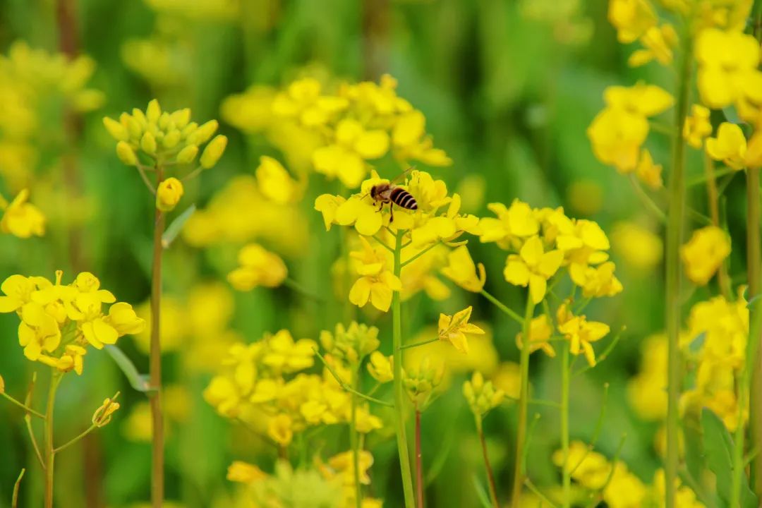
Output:
<path fill-rule="evenodd" d="M 82 133 L 73 145 L 62 142 L 58 117 L 46 118 L 57 149 L 71 149 L 76 158 L 76 179 L 81 192 L 94 200 L 97 211 L 82 230 L 81 249 L 73 251 L 66 224 L 71 210 L 66 203 L 50 217 L 46 238 L 21 241 L 0 238 L 0 278 L 13 273 L 45 274 L 62 268 L 72 274 L 74 267 L 101 278 L 103 286 L 121 301 L 137 304 L 149 294 L 149 259 L 152 228 L 152 200 L 131 168 L 114 155 L 114 142 L 101 124 L 101 117 L 117 117 L 123 110 L 144 108 L 157 97 L 165 109 L 191 107 L 194 118 L 219 118 L 219 105 L 229 94 L 248 85 L 280 86 L 290 81 L 304 65 L 319 65 L 329 75 L 358 80 L 376 72 L 389 72 L 399 79 L 399 94 L 411 101 L 427 117 L 427 129 L 437 146 L 453 158 L 451 168 L 433 171 L 453 186 L 463 177 L 480 174 L 485 178 L 484 203 L 510 203 L 515 197 L 533 206 L 564 206 L 570 216 L 594 219 L 610 232 L 617 221 L 628 219 L 658 224 L 636 199 L 625 177 L 595 160 L 585 129 L 602 107 L 602 91 L 608 85 L 632 85 L 640 78 L 671 89 L 671 76 L 657 67 L 629 69 L 626 57 L 631 49 L 616 43 L 607 22 L 607 2 L 580 2 L 576 18 L 586 24 L 590 37 L 579 44 L 559 40 L 559 24 L 533 20 L 521 5 L 533 2 L 505 0 L 430 2 L 368 0 L 241 0 L 241 15 L 215 21 L 178 18 L 171 36 L 181 41 L 191 59 L 180 62 L 187 78 L 178 85 L 152 87 L 131 72 L 122 58 L 123 43 L 133 37 L 156 34 L 162 23 L 149 2 L 76 0 L 75 27 L 80 50 L 92 56 L 97 71 L 91 87 L 104 91 L 107 102 L 101 110 L 82 119 Z M 571 3 L 559 2 L 559 5 Z M 370 14 L 368 11 L 370 10 Z M 380 50 L 381 65 L 371 65 L 366 46 L 370 28 L 363 24 L 370 16 Z M 27 40 L 32 47 L 56 50 L 59 25 L 53 0 L 3 0 L 0 2 L 0 50 L 5 53 L 14 40 Z M 222 123 L 221 132 L 230 143 L 219 165 L 203 174 L 187 189 L 185 204 L 203 206 L 210 196 L 235 174 L 252 174 L 260 155 L 275 155 L 264 139 L 246 139 L 239 131 Z M 657 161 L 666 161 L 666 138 L 652 136 L 650 147 Z M 56 149 L 40 147 L 52 157 Z M 40 177 L 60 171 L 56 161 L 40 163 Z M 700 174 L 698 160 L 690 174 Z M 600 187 L 600 206 L 575 209 L 568 187 L 578 181 L 592 181 Z M 731 231 L 743 231 L 742 192 L 738 182 L 728 190 L 727 216 Z M 309 195 L 333 190 L 320 175 L 312 175 Z M 694 190 L 701 196 L 702 187 Z M 334 239 L 326 234 L 312 201 L 304 202 L 311 221 L 310 249 L 302 259 L 288 259 L 290 269 L 305 286 L 329 292 L 328 266 L 335 259 Z M 472 210 L 488 215 L 485 206 Z M 257 217 L 251 217 L 252 221 Z M 735 235 L 743 238 L 744 235 Z M 328 244 L 328 246 L 326 246 Z M 165 289 L 183 295 L 199 277 L 220 280 L 236 246 L 196 251 L 177 244 L 167 255 Z M 504 254 L 470 244 L 475 260 L 487 266 L 488 290 L 514 308 L 523 305 L 522 292 L 504 283 L 501 275 Z M 734 244 L 732 267 L 741 268 L 743 244 Z M 72 256 L 72 254 L 74 254 Z M 738 259 L 736 259 L 738 257 Z M 653 448 L 656 425 L 640 422 L 626 404 L 625 383 L 639 363 L 639 344 L 648 334 L 659 331 L 663 322 L 661 267 L 649 273 L 632 270 L 617 262 L 625 291 L 613 299 L 595 302 L 588 315 L 607 321 L 613 330 L 626 324 L 620 346 L 607 361 L 588 375 L 574 379 L 571 392 L 571 437 L 589 439 L 601 404 L 604 382 L 610 383 L 609 402 L 600 437 L 601 452 L 613 455 L 620 434 L 628 435 L 622 458 L 644 481 L 650 481 L 658 467 Z M 742 273 L 732 270 L 731 274 Z M 67 279 L 69 280 L 69 279 Z M 686 296 L 690 298 L 690 296 Z M 693 295 L 693 298 L 700 295 Z M 338 305 L 338 304 L 337 304 Z M 502 359 L 517 359 L 514 346 L 517 325 L 507 320 L 488 302 L 461 291 L 450 301 L 432 303 L 417 296 L 407 308 L 406 333 L 434 323 L 438 312 L 474 305 L 475 318 L 489 321 L 495 345 Z M 415 309 L 415 310 L 414 310 Z M 305 302 L 288 289 L 256 289 L 236 294 L 235 327 L 248 340 L 257 340 L 264 331 L 290 327 L 295 336 L 317 337 L 321 329 L 332 327 L 337 312 Z M 31 364 L 21 353 L 16 339 L 17 320 L 0 315 L 0 373 L 7 390 L 21 395 L 33 369 L 40 370 L 40 387 L 46 384 L 45 369 Z M 382 329 L 382 349 L 387 353 L 388 318 L 375 323 Z M 142 371 L 148 363 L 129 337 L 120 341 Z M 193 412 L 187 424 L 169 436 L 167 451 L 168 499 L 184 506 L 213 506 L 221 493 L 231 490 L 225 471 L 234 458 L 251 458 L 258 446 L 216 416 L 203 402 L 201 391 L 208 378 L 188 375 L 177 358 L 168 356 L 165 378 L 181 382 L 193 394 Z M 539 354 L 532 357 L 533 386 L 537 398 L 557 399 L 559 379 L 555 363 Z M 472 418 L 459 393 L 462 379 L 424 414 L 424 468 L 440 462 L 441 471 L 427 489 L 430 506 L 476 506 L 473 478 L 483 478 L 479 443 Z M 131 506 L 149 497 L 148 444 L 131 443 L 122 434 L 123 418 L 142 399 L 131 391 L 126 379 L 104 353 L 91 352 L 82 377 L 66 376 L 59 391 L 58 432 L 74 435 L 101 400 L 121 390 L 123 408 L 114 423 L 95 433 L 56 459 L 59 506 Z M 38 390 L 38 395 L 43 392 Z M 37 404 L 42 400 L 37 398 Z M 555 409 L 533 407 L 541 415 L 530 447 L 529 474 L 536 484 L 558 481 L 558 471 L 549 457 L 559 446 Z M 21 414 L 9 404 L 0 404 L 0 506 L 9 506 L 11 488 L 18 472 L 27 467 L 21 490 L 22 506 L 40 506 L 41 476 L 24 430 Z M 502 407 L 485 422 L 488 443 L 498 484 L 507 497 L 512 474 L 515 414 Z M 331 452 L 346 446 L 345 436 L 336 433 Z M 342 444 L 343 443 L 343 444 Z M 401 486 L 399 465 L 395 464 L 393 439 L 374 438 L 369 443 L 375 458 L 373 487 L 386 506 L 399 506 Z M 245 450 L 244 453 L 241 451 Z M 248 456 L 247 456 L 248 455 Z M 442 462 L 443 461 L 443 462 Z M 266 466 L 266 465 L 264 465 Z M 481 481 L 481 480 L 480 480 Z M 226 506 L 223 502 L 219 506 Z"/>

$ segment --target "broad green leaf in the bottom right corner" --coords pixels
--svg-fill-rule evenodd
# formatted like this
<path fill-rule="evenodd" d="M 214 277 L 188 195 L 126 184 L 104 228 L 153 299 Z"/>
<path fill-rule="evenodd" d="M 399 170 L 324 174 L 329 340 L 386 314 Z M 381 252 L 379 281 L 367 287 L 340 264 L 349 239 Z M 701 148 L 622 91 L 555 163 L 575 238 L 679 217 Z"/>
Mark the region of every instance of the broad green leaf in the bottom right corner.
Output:
<path fill-rule="evenodd" d="M 730 506 L 733 475 L 733 439 L 725 429 L 722 420 L 706 409 L 701 412 L 701 427 L 704 433 L 706 464 L 717 479 L 717 494 L 722 506 Z M 754 508 L 757 497 L 749 488 L 746 474 L 741 474 L 741 506 Z"/>

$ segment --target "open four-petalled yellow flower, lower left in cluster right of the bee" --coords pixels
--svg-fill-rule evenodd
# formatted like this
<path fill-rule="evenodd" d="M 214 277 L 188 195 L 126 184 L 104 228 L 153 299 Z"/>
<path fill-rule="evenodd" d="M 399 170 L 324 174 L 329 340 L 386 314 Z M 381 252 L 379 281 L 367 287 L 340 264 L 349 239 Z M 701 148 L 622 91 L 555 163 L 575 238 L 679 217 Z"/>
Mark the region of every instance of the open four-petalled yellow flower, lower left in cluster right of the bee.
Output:
<path fill-rule="evenodd" d="M 547 281 L 559 270 L 563 260 L 562 251 L 545 252 L 543 241 L 533 236 L 524 242 L 520 254 L 508 256 L 503 273 L 509 283 L 529 286 L 532 302 L 538 304 L 545 298 Z"/>

